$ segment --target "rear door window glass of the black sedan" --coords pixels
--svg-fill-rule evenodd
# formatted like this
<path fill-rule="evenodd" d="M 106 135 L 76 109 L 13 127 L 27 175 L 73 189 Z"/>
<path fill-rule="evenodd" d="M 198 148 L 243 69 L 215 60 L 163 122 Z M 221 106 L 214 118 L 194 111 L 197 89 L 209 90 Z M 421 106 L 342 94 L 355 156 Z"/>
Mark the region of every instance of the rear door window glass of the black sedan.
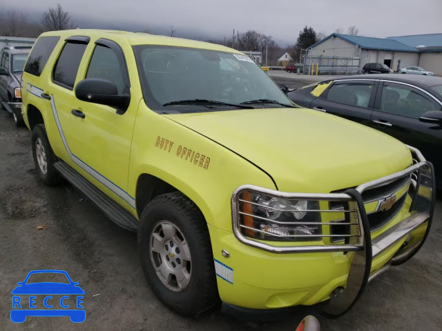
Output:
<path fill-rule="evenodd" d="M 327 100 L 344 105 L 367 108 L 374 90 L 374 82 L 335 83 Z"/>

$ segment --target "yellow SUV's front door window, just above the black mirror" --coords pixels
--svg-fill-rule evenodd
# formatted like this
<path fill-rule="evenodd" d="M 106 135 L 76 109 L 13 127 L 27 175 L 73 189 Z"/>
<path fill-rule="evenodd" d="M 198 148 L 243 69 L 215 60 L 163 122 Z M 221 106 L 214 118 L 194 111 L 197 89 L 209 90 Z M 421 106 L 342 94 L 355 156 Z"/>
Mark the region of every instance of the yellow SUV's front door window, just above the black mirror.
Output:
<path fill-rule="evenodd" d="M 125 87 L 123 72 L 119 66 L 117 55 L 111 48 L 101 45 L 95 47 L 86 78 L 101 78 L 112 81 L 117 86 L 118 94 L 122 94 Z"/>

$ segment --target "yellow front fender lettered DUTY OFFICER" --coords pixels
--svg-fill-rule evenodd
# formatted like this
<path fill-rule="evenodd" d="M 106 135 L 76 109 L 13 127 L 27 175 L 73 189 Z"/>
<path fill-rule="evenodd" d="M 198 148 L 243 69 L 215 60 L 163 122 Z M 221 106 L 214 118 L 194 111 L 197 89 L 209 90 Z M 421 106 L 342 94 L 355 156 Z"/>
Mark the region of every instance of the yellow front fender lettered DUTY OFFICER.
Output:
<path fill-rule="evenodd" d="M 240 185 L 275 189 L 269 175 L 235 152 L 149 110 L 144 102 L 135 121 L 128 191 L 151 174 L 186 194 L 210 225 L 232 231 L 231 196 Z M 190 150 L 190 152 L 189 152 Z"/>

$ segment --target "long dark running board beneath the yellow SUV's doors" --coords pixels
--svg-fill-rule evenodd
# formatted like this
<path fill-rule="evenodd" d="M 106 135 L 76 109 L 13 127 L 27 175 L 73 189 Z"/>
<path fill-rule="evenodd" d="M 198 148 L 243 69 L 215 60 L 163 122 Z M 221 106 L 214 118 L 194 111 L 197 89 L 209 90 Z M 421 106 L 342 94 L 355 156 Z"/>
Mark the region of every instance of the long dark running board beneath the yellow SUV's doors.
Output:
<path fill-rule="evenodd" d="M 109 198 L 100 191 L 95 185 L 90 183 L 81 174 L 75 171 L 70 165 L 63 161 L 54 164 L 55 169 L 66 178 L 68 182 L 83 192 L 90 201 L 95 203 L 99 209 L 106 214 L 113 222 L 122 228 L 136 232 L 138 229 L 138 221 L 133 214 L 122 208 L 118 203 Z"/>

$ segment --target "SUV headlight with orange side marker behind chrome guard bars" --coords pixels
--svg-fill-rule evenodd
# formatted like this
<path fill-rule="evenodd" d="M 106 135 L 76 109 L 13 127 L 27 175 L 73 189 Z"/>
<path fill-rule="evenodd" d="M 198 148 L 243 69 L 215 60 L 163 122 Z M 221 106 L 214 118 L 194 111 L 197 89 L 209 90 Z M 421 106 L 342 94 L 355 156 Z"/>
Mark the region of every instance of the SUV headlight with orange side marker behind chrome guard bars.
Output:
<path fill-rule="evenodd" d="M 244 191 L 238 199 L 241 233 L 269 241 L 321 240 L 318 201 L 281 199 Z"/>

